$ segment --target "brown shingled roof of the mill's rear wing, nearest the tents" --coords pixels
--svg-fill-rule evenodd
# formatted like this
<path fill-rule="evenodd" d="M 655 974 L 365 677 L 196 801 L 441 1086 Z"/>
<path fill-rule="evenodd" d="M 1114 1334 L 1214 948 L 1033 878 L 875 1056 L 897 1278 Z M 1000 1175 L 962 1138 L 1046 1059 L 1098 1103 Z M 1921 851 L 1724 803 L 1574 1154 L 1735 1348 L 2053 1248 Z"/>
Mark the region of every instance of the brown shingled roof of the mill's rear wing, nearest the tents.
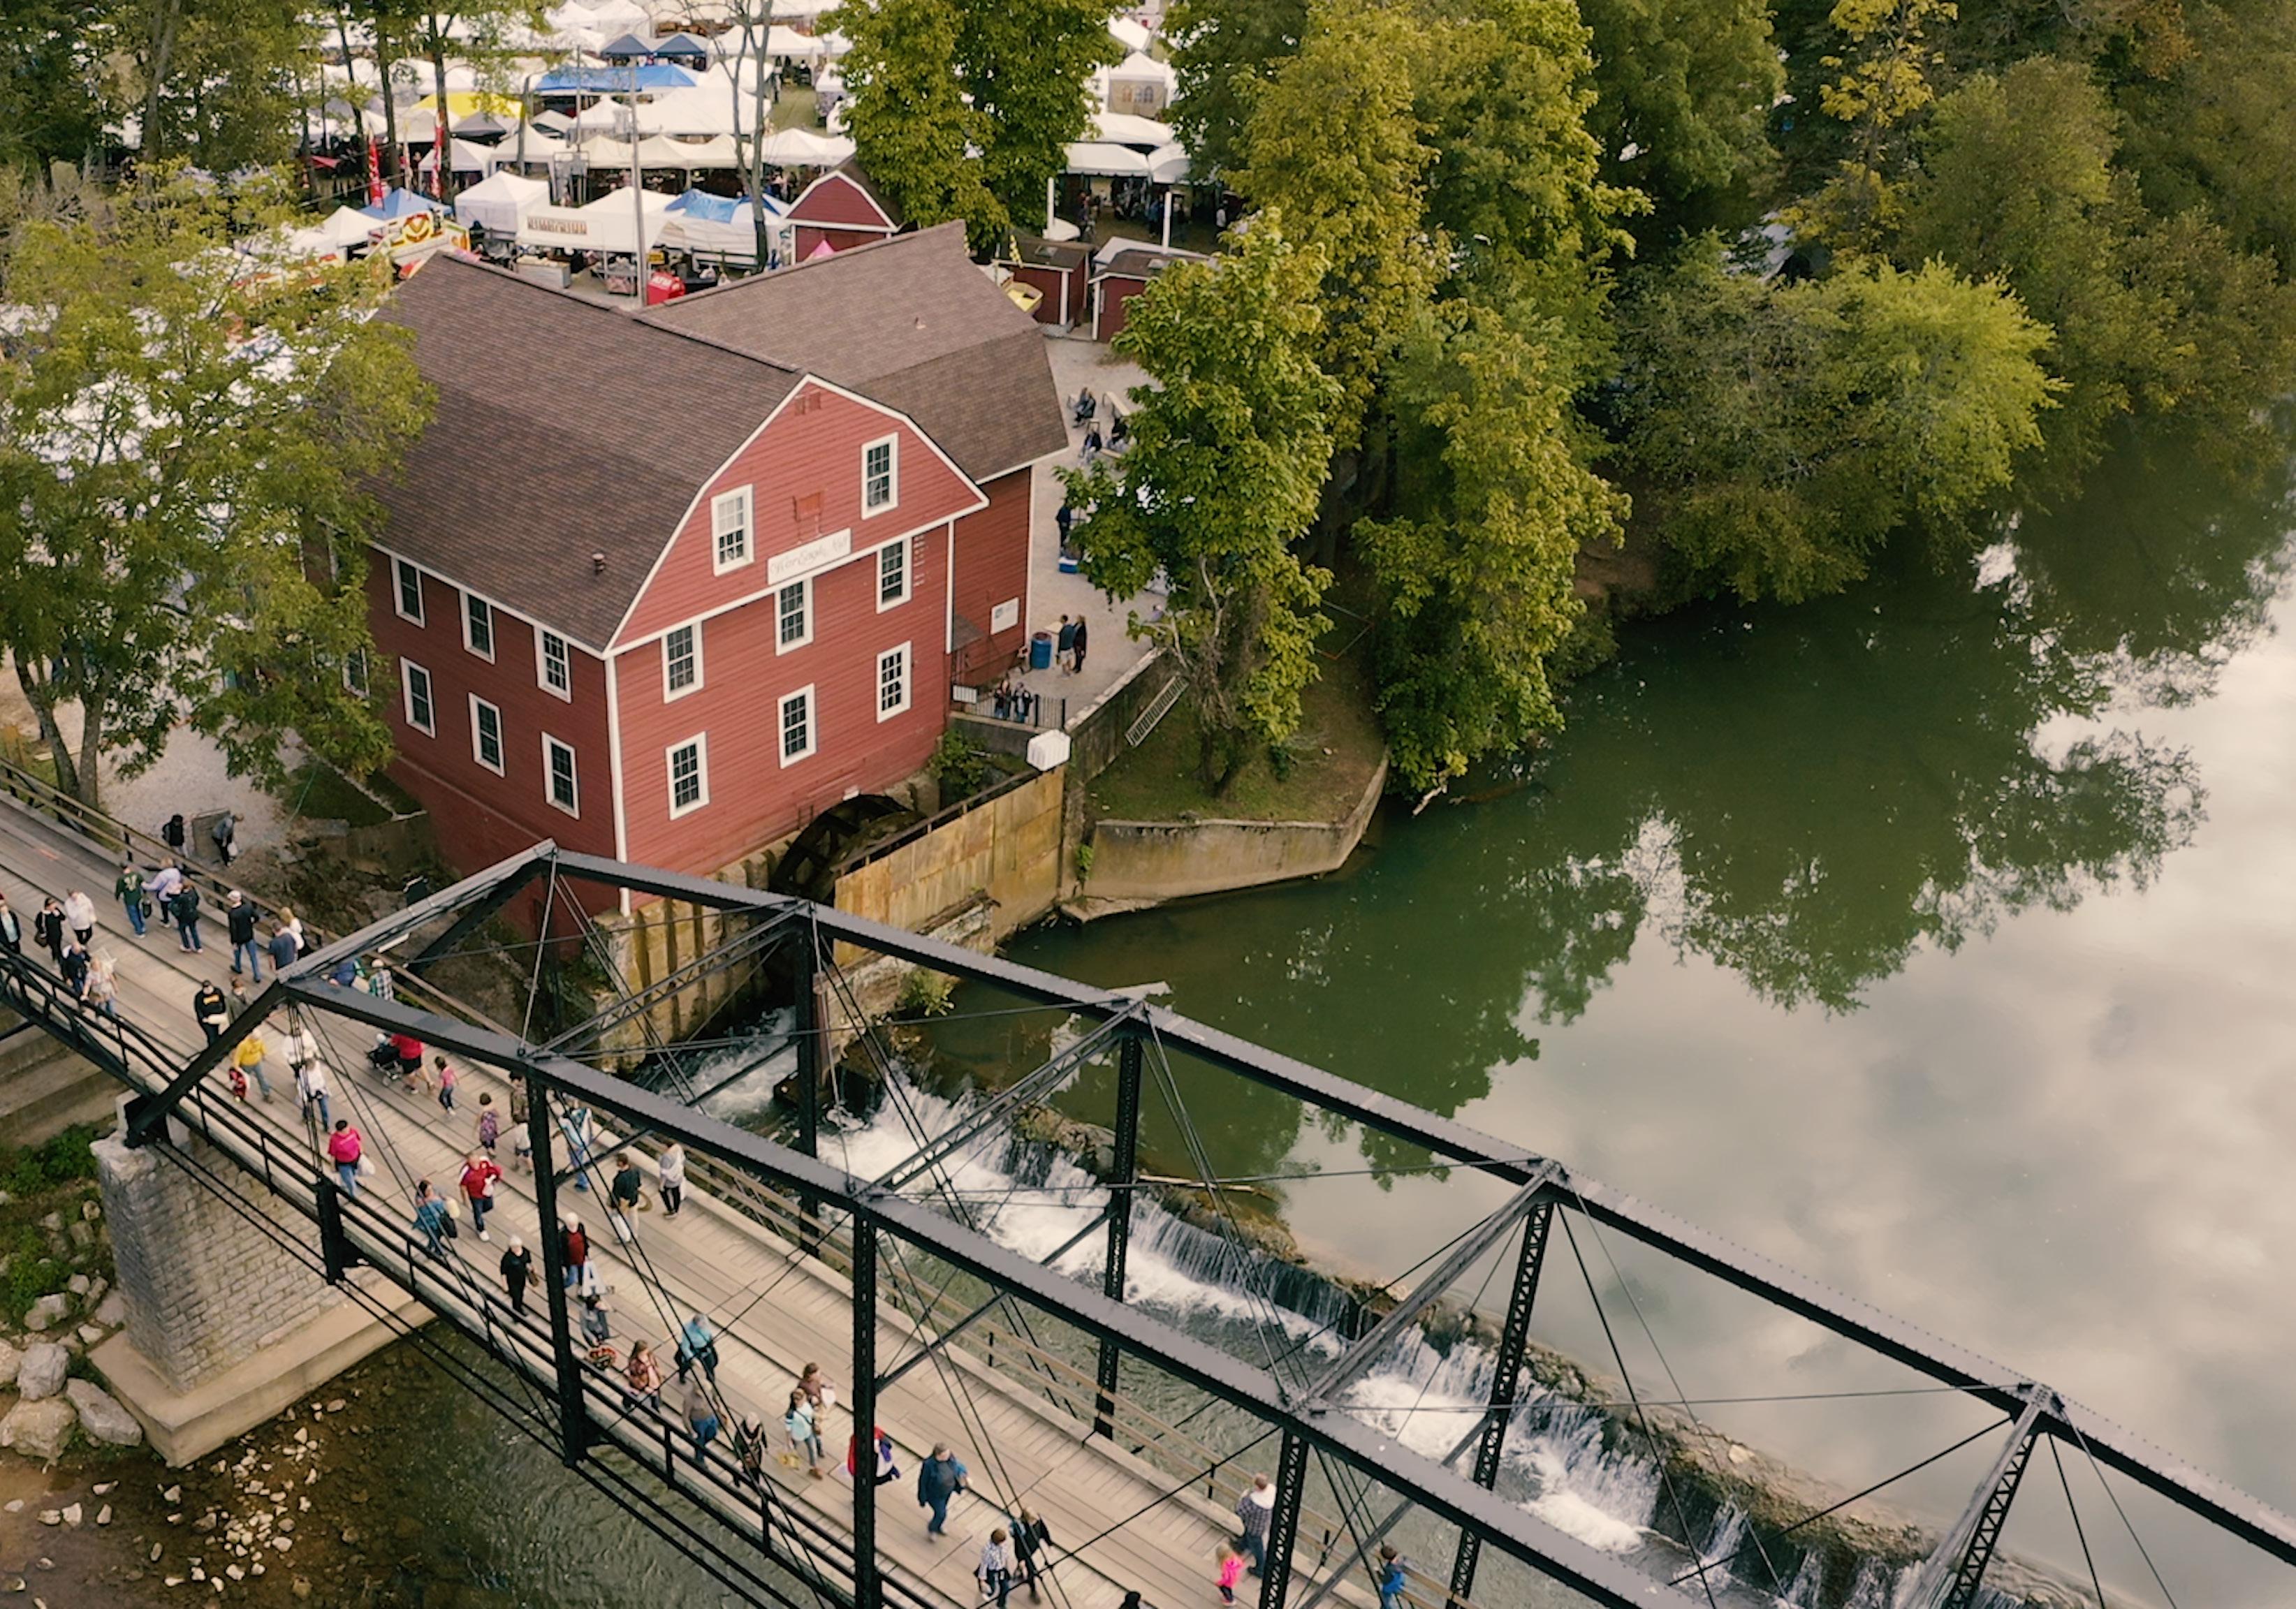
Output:
<path fill-rule="evenodd" d="M 645 314 L 900 409 L 974 480 L 1068 448 L 1045 333 L 964 252 L 964 225 L 854 246 Z"/>

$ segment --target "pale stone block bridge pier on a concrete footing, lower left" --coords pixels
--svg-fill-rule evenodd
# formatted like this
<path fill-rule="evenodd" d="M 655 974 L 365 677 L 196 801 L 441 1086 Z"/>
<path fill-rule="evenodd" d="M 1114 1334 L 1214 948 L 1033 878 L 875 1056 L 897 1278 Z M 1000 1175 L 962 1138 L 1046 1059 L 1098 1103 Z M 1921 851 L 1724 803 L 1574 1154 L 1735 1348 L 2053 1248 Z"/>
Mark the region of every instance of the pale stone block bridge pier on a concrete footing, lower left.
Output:
<path fill-rule="evenodd" d="M 188 1464 L 395 1331 L 326 1283 L 319 1230 L 305 1214 L 207 1141 L 172 1122 L 168 1129 L 165 1148 L 129 1150 L 117 1136 L 94 1145 L 129 1322 L 90 1361 L 152 1446 L 170 1464 Z M 427 1317 L 372 1269 L 351 1278 L 402 1322 Z"/>

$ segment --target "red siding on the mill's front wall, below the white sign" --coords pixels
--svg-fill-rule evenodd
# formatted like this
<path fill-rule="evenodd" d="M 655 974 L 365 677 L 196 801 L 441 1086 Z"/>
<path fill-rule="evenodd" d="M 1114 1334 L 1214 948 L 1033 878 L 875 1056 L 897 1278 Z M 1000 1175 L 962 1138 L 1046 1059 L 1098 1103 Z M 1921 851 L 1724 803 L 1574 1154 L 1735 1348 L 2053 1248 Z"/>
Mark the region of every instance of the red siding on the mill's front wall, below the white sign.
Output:
<path fill-rule="evenodd" d="M 882 792 L 923 769 L 948 716 L 948 526 L 912 537 L 909 562 L 909 601 L 882 613 L 875 549 L 815 572 L 813 640 L 785 654 L 774 652 L 774 597 L 712 615 L 700 629 L 703 684 L 677 700 L 664 700 L 659 640 L 618 654 L 629 858 L 712 872 L 852 792 Z M 877 721 L 877 654 L 900 643 L 909 709 Z M 804 686 L 815 751 L 785 767 L 781 698 Z M 707 734 L 709 803 L 673 819 L 668 748 L 696 734 Z"/>

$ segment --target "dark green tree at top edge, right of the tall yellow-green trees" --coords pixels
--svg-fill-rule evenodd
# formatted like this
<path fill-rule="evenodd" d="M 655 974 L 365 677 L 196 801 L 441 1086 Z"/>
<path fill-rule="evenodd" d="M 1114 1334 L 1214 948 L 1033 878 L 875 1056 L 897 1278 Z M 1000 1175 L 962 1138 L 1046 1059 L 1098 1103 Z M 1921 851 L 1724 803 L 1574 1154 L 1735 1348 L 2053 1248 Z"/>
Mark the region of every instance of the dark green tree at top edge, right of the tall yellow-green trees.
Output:
<path fill-rule="evenodd" d="M 1763 0 L 1584 0 L 1605 174 L 1662 202 L 1759 179 L 1786 69 Z M 1635 147 L 1635 156 L 1623 156 Z"/>

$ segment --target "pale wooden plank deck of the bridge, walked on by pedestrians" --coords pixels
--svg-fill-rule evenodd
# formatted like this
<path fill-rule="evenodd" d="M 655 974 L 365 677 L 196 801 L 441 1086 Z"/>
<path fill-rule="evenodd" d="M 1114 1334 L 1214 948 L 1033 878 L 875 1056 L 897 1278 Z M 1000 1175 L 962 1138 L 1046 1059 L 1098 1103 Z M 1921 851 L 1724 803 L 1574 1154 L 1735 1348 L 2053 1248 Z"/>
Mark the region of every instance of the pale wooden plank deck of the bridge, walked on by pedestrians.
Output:
<path fill-rule="evenodd" d="M 46 893 L 62 897 L 67 888 L 85 888 L 99 914 L 94 948 L 115 957 L 122 1015 L 188 1058 L 202 1042 L 191 1015 L 193 992 L 202 980 L 230 987 L 230 941 L 220 911 L 211 900 L 202 907 L 202 936 L 207 939 L 202 953 L 179 950 L 172 930 L 158 923 L 149 936 L 138 939 L 117 900 L 108 897 L 115 875 L 117 865 L 108 865 L 78 835 L 32 815 L 14 799 L 0 799 L 0 891 L 23 916 L 25 948 L 32 948 L 30 918 L 39 909 L 39 897 Z M 501 1157 L 507 1168 L 512 1150 L 510 1102 L 507 1086 L 494 1070 L 461 1065 L 457 1111 L 448 1116 L 429 1095 L 406 1095 L 395 1076 L 383 1079 L 367 1070 L 363 1051 L 372 1037 L 365 1037 L 358 1024 L 315 1026 L 328 1051 L 333 1111 L 338 1118 L 351 1118 L 379 1155 L 381 1173 L 363 1184 L 363 1198 L 374 1194 L 390 1200 L 411 1223 L 411 1187 L 390 1177 L 390 1168 L 381 1161 L 383 1155 L 395 1155 L 409 1168 L 422 1171 L 439 1189 L 455 1189 L 461 1157 L 475 1148 L 480 1093 L 491 1093 L 505 1116 Z M 310 1136 L 294 1102 L 294 1081 L 278 1056 L 278 1031 L 266 1031 L 266 1040 L 273 1047 L 269 1072 L 276 1099 L 271 1104 L 250 1102 L 250 1111 L 276 1132 L 276 1138 L 308 1145 Z M 595 1150 L 604 1150 L 611 1141 L 611 1134 L 602 1136 Z M 641 1166 L 647 1166 L 650 1173 L 650 1164 Z M 647 1180 L 647 1196 L 652 1198 L 652 1180 Z M 533 1177 L 512 1171 L 498 1184 L 498 1200 L 501 1205 L 489 1214 L 491 1244 L 480 1242 L 464 1219 L 461 1237 L 452 1242 L 450 1256 L 466 1265 L 473 1299 L 491 1299 L 496 1317 L 507 1324 L 496 1262 L 510 1235 L 523 1235 L 535 1253 L 537 1283 L 528 1295 L 528 1308 L 546 1311 L 540 1290 L 542 1253 Z M 666 1221 L 659 1207 L 638 1214 L 634 1219 L 638 1242 L 661 1290 L 675 1297 L 677 1315 L 703 1313 L 721 1329 L 719 1386 L 723 1393 L 737 1412 L 767 1425 L 776 1448 L 785 1448 L 781 1416 L 801 1366 L 820 1363 L 840 1389 L 852 1375 L 850 1285 L 833 1267 L 801 1256 L 790 1239 L 714 1200 L 707 1184 L 696 1180 L 687 1191 L 687 1203 L 689 1210 L 675 1223 Z M 615 1244 L 604 1203 L 595 1194 L 569 1194 L 560 1187 L 560 1210 L 581 1217 L 590 1233 L 590 1256 L 602 1265 L 602 1278 L 613 1290 L 608 1306 L 615 1345 L 627 1354 L 631 1338 L 650 1338 L 668 1361 L 670 1345 L 664 1340 L 668 1327 L 652 1308 L 647 1285 L 638 1278 L 625 1249 Z M 310 1244 L 317 1244 L 317 1230 L 312 1230 Z M 886 1258 L 884 1276 L 886 1283 L 895 1276 L 891 1258 Z M 760 1292 L 767 1295 L 758 1299 Z M 730 1322 L 737 1313 L 739 1322 Z M 909 1357 L 916 1350 L 916 1334 L 905 1315 L 891 1311 L 889 1301 L 879 1301 L 879 1370 Z M 902 1375 L 879 1398 L 877 1418 L 900 1446 L 902 1471 L 898 1483 L 879 1490 L 877 1501 L 877 1549 L 886 1568 L 923 1586 L 928 1595 L 969 1609 L 978 1602 L 974 1565 L 990 1529 L 1008 1524 L 1010 1510 L 1026 1503 L 1045 1517 L 1061 1549 L 1056 1552 L 1056 1586 L 1047 1588 L 1047 1602 L 1054 1609 L 1118 1609 L 1127 1588 L 1141 1591 L 1150 1609 L 1217 1604 L 1212 1577 L 1219 1540 L 1233 1533 L 1231 1494 L 1238 1483 L 1249 1480 L 1254 1469 L 1272 1471 L 1274 1441 L 1254 1453 L 1249 1464 L 1231 1464 L 1221 1471 L 1221 1501 L 1205 1499 L 1203 1474 L 1194 1478 L 1192 1490 L 1171 1494 L 1180 1476 L 1088 1435 L 1088 1409 L 1084 1418 L 1054 1409 L 1045 1396 L 987 1368 L 962 1345 L 946 1347 L 946 1354 L 951 1370 L 962 1370 L 962 1393 L 951 1384 L 951 1370 L 928 1363 Z M 682 1448 L 682 1393 L 675 1382 L 664 1389 L 664 1407 L 673 1416 Z M 850 1536 L 852 1487 L 843 1460 L 852 1418 L 843 1400 L 824 1418 L 822 1437 L 836 1471 L 813 1480 L 804 1469 L 788 1469 L 771 1460 L 769 1474 L 790 1503 L 806 1506 L 840 1536 Z M 994 1444 L 994 1455 L 980 1446 L 980 1428 Z M 923 1508 L 918 1508 L 914 1492 L 918 1462 L 934 1441 L 948 1441 L 957 1451 L 971 1467 L 974 1485 L 971 1497 L 960 1497 L 951 1506 L 948 1538 L 941 1542 L 928 1542 Z M 728 1425 L 728 1435 L 721 1435 L 712 1458 L 730 1460 L 730 1455 Z M 1010 1476 L 1010 1483 L 1001 1476 Z M 1300 1561 L 1313 1563 L 1313 1538 L 1306 1531 L 1309 1526 L 1302 1522 Z M 1086 1542 L 1086 1538 L 1097 1540 Z M 1065 1552 L 1079 1542 L 1079 1552 Z M 1247 1586 L 1256 1586 L 1256 1581 L 1247 1577 Z M 1295 1602 L 1304 1600 L 1309 1588 L 1311 1577 L 1300 1572 L 1293 1581 Z M 1371 1593 L 1357 1572 L 1334 1600 L 1359 1607 L 1371 1602 Z"/>

